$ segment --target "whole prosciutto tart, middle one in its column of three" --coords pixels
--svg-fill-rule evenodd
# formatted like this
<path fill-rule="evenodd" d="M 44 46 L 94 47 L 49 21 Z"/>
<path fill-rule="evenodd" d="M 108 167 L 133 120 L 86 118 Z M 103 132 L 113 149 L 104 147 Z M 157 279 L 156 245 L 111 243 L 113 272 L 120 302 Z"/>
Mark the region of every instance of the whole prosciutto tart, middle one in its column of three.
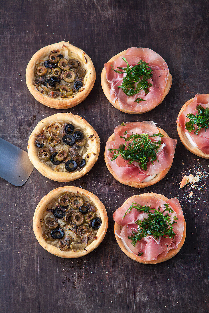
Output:
<path fill-rule="evenodd" d="M 123 123 L 106 143 L 105 162 L 122 184 L 148 187 L 168 173 L 176 142 L 152 121 Z"/>

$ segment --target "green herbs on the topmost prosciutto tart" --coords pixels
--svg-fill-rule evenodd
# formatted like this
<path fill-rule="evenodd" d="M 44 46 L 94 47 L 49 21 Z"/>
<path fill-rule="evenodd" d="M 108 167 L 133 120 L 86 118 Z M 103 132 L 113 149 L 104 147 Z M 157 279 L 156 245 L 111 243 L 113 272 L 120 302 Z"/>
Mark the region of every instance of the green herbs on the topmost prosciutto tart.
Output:
<path fill-rule="evenodd" d="M 123 92 L 129 97 L 136 95 L 140 92 L 140 90 L 144 90 L 145 94 L 147 95 L 149 93 L 148 88 L 152 86 L 152 84 L 147 80 L 153 76 L 149 63 L 140 60 L 138 64 L 131 67 L 124 57 L 123 60 L 126 62 L 127 68 L 117 67 L 119 70 L 112 68 L 112 70 L 114 70 L 116 73 L 126 73 L 126 76 L 123 78 L 122 85 L 118 86 L 118 88 L 121 88 Z M 137 98 L 134 102 L 139 103 L 140 101 L 145 100 Z"/>

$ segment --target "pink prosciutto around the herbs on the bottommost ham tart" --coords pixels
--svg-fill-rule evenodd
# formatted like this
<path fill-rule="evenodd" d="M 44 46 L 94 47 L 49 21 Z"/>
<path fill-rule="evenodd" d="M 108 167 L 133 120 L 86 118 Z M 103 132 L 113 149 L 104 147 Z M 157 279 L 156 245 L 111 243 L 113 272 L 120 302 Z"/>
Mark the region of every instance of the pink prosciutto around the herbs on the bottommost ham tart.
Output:
<path fill-rule="evenodd" d="M 163 204 L 168 203 L 169 207 L 174 211 L 173 213 L 169 213 L 171 217 L 171 223 L 174 220 L 174 216 L 178 218 L 177 223 L 173 224 L 173 231 L 175 233 L 174 238 L 159 237 L 159 239 L 155 239 L 153 236 L 146 236 L 140 241 L 137 241 L 136 247 L 134 247 L 131 243 L 132 240 L 128 239 L 128 237 L 131 236 L 132 230 L 136 232 L 138 229 L 138 225 L 135 224 L 135 222 L 137 220 L 148 218 L 148 213 L 138 212 L 135 208 L 132 208 L 130 213 L 126 213 L 132 203 L 137 203 L 142 206 L 150 205 L 153 209 L 158 209 L 160 206 L 160 211 L 164 210 Z M 126 215 L 123 218 L 125 213 Z M 166 213 L 167 212 L 164 214 Z M 162 199 L 153 195 L 144 197 L 133 196 L 114 212 L 113 218 L 117 224 L 123 226 L 121 230 L 115 231 L 115 234 L 122 239 L 125 248 L 137 256 L 138 253 L 143 252 L 140 258 L 144 261 L 157 260 L 158 257 L 166 256 L 170 249 L 177 249 L 184 233 L 184 215 L 177 198 L 163 201 Z"/>

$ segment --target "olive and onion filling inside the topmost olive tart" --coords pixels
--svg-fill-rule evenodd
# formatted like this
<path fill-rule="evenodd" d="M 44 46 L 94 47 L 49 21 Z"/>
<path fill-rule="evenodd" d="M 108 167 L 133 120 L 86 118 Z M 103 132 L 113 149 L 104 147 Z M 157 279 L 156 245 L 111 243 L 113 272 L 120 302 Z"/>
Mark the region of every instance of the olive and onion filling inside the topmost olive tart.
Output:
<path fill-rule="evenodd" d="M 51 98 L 68 98 L 83 90 L 85 75 L 82 60 L 63 45 L 36 62 L 33 84 Z"/>

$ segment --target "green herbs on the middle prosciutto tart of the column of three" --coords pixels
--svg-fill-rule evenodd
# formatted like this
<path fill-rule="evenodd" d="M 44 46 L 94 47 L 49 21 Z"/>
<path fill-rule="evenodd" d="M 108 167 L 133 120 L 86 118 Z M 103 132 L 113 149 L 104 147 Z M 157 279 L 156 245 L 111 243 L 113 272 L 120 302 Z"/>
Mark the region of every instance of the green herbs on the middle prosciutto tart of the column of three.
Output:
<path fill-rule="evenodd" d="M 151 141 L 151 137 L 160 136 L 163 137 L 161 133 L 153 134 L 149 136 L 148 134 L 133 134 L 129 137 L 124 138 L 125 143 L 121 144 L 118 149 L 108 149 L 109 151 L 114 151 L 114 155 L 111 161 L 115 160 L 119 155 L 124 160 L 128 161 L 128 165 L 136 161 L 143 170 L 147 170 L 147 164 L 149 162 L 154 163 L 158 161 L 156 154 L 158 153 L 158 148 L 161 145 L 161 140 Z M 130 141 L 126 144 L 126 141 Z M 159 161 L 158 161 L 159 162 Z"/>

